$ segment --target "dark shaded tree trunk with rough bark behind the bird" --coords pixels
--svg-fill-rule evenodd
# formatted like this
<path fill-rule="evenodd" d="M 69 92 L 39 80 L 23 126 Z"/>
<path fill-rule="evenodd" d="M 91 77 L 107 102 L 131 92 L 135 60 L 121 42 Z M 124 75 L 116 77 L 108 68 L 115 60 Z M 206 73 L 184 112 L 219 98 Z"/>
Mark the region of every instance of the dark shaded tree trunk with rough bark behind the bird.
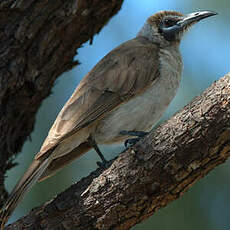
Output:
<path fill-rule="evenodd" d="M 92 40 L 123 0 L 0 2 L 0 204 L 4 174 L 34 127 L 55 79 L 77 65 L 77 48 Z"/>

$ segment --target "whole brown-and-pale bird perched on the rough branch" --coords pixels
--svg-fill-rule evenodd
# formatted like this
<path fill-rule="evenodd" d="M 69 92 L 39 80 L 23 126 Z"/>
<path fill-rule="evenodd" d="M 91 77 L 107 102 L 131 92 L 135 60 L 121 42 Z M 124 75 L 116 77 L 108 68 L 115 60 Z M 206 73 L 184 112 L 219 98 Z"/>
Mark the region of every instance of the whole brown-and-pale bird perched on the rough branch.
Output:
<path fill-rule="evenodd" d="M 34 161 L 9 195 L 1 210 L 1 229 L 37 181 L 92 148 L 103 166 L 107 161 L 98 145 L 132 144 L 154 127 L 180 85 L 183 35 L 193 24 L 216 14 L 157 12 L 135 38 L 103 57 L 66 102 Z"/>

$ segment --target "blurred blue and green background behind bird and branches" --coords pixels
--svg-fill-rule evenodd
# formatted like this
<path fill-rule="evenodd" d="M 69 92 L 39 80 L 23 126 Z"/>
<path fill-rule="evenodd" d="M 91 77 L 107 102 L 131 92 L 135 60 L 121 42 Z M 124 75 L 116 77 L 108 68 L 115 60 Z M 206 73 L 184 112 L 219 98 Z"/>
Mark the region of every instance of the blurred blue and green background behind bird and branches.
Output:
<path fill-rule="evenodd" d="M 9 191 L 27 169 L 34 154 L 45 139 L 58 112 L 72 94 L 81 78 L 110 50 L 131 39 L 139 31 L 146 18 L 159 10 L 177 10 L 190 13 L 213 10 L 218 16 L 208 18 L 185 36 L 181 44 L 184 60 L 183 80 L 179 92 L 162 120 L 172 116 L 200 94 L 212 82 L 230 69 L 230 1 L 227 0 L 125 0 L 121 11 L 113 17 L 101 33 L 79 49 L 76 56 L 82 64 L 63 74 L 38 114 L 32 141 L 26 142 L 23 153 L 15 160 L 19 166 L 8 172 L 6 180 Z M 106 147 L 107 158 L 113 158 L 122 146 Z M 31 208 L 50 200 L 81 177 L 96 168 L 97 155 L 89 152 L 60 173 L 34 186 L 20 203 L 10 221 L 28 213 Z M 183 197 L 161 209 L 151 218 L 133 229 L 185 229 L 228 230 L 230 226 L 230 164 L 213 170 L 192 187 Z"/>

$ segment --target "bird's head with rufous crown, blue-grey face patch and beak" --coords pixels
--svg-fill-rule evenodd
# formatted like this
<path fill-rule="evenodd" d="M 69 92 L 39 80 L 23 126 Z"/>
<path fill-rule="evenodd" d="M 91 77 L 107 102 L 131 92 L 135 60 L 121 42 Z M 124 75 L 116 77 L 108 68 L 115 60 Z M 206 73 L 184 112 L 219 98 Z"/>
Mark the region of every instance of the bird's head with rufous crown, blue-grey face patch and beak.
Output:
<path fill-rule="evenodd" d="M 183 15 L 176 11 L 160 11 L 147 19 L 139 35 L 160 45 L 179 44 L 184 33 L 193 24 L 216 14 L 211 11 L 199 11 Z"/>

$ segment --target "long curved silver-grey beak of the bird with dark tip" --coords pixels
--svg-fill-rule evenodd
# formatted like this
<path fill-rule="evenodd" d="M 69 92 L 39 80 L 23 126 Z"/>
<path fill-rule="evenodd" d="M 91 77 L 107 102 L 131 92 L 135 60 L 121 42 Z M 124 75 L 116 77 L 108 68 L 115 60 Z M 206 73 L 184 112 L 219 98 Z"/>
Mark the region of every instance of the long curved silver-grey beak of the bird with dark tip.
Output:
<path fill-rule="evenodd" d="M 177 25 L 183 29 L 185 27 L 189 27 L 197 22 L 199 22 L 202 19 L 208 18 L 210 16 L 217 15 L 216 12 L 212 11 L 199 11 L 199 12 L 194 12 L 191 14 L 187 14 L 180 21 L 177 22 Z"/>

